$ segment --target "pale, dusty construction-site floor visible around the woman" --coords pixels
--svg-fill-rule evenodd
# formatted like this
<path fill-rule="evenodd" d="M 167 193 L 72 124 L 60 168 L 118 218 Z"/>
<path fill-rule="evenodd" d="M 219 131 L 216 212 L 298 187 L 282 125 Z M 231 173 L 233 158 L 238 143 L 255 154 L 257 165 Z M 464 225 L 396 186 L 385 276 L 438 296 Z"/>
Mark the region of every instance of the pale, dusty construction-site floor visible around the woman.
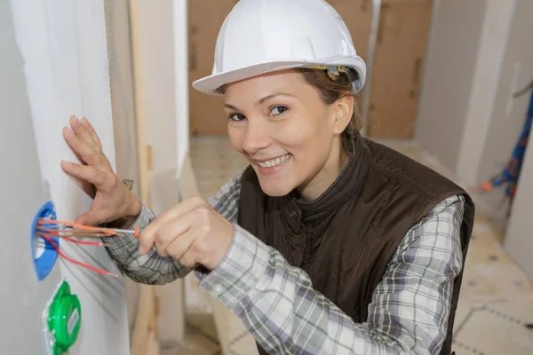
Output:
<path fill-rule="evenodd" d="M 435 159 L 411 142 L 383 142 L 453 177 Z M 246 167 L 227 138 L 193 138 L 191 157 L 203 196 L 216 193 L 229 177 Z M 454 327 L 457 355 L 533 354 L 533 282 L 501 248 L 502 234 L 487 218 L 477 217 L 471 247 L 465 263 L 461 298 Z M 207 311 L 207 312 L 203 312 Z M 193 309 L 188 315 L 187 343 L 165 348 L 163 355 L 219 354 L 219 343 L 209 310 Z M 257 354 L 254 341 L 237 317 L 227 319 L 231 328 L 230 352 Z"/>

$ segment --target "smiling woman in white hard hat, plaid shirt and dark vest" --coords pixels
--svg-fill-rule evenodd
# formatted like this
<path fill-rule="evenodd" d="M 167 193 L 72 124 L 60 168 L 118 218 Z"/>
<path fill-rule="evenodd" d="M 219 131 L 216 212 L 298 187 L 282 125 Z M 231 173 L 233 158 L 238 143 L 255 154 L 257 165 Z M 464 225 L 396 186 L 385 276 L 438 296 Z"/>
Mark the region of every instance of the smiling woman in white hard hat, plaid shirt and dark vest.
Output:
<path fill-rule="evenodd" d="M 87 120 L 64 130 L 93 189 L 84 224 L 146 227 L 107 239 L 133 280 L 191 270 L 271 354 L 449 353 L 473 225 L 457 185 L 359 133 L 365 66 L 322 0 L 242 0 L 213 74 L 228 135 L 250 167 L 210 201 L 154 217 L 121 184 Z"/>

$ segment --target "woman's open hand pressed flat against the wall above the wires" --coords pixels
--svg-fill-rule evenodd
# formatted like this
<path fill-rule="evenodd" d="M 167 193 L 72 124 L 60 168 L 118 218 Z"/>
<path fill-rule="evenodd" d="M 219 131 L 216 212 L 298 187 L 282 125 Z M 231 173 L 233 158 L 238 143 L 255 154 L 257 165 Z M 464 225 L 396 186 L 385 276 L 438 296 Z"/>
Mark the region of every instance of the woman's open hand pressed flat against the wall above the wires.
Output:
<path fill-rule="evenodd" d="M 75 223 L 99 225 L 138 216 L 139 199 L 115 175 L 91 123 L 71 116 L 70 127 L 63 129 L 63 137 L 82 163 L 61 162 L 61 168 L 93 199 L 91 209 Z"/>

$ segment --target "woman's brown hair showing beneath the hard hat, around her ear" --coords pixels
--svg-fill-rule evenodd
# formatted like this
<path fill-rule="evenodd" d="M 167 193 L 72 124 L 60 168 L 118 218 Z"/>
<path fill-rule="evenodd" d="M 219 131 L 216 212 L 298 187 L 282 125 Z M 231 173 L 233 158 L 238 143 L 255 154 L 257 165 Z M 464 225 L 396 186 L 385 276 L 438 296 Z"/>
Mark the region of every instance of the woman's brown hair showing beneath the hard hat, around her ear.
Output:
<path fill-rule="evenodd" d="M 339 73 L 335 80 L 330 78 L 327 70 L 312 68 L 297 68 L 296 71 L 304 76 L 306 83 L 314 86 L 320 92 L 322 101 L 331 105 L 345 96 L 354 98 L 354 113 L 346 130 L 342 132 L 342 145 L 352 151 L 354 147 L 354 134 L 362 129 L 361 97 L 352 91 L 352 77 L 355 74 Z"/>

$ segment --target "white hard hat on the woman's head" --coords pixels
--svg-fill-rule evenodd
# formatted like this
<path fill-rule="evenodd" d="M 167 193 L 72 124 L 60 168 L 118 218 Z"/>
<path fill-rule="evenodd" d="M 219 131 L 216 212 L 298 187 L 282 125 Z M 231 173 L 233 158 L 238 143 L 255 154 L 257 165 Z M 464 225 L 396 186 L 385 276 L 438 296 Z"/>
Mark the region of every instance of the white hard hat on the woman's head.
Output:
<path fill-rule="evenodd" d="M 226 83 L 294 67 L 353 68 L 354 91 L 366 66 L 338 12 L 324 0 L 241 0 L 219 31 L 212 74 L 193 87 L 219 94 Z"/>

